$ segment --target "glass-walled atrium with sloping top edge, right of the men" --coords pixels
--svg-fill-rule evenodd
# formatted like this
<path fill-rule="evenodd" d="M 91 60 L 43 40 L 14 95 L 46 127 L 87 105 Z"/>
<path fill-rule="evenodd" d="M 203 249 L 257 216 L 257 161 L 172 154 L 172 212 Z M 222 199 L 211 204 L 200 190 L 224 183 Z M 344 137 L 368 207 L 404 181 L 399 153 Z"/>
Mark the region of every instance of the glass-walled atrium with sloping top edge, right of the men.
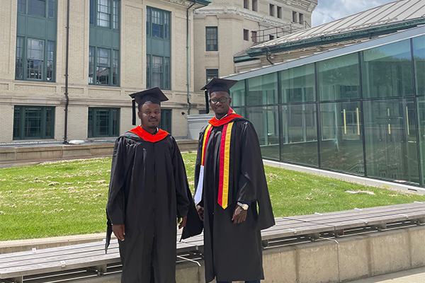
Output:
<path fill-rule="evenodd" d="M 425 28 L 228 79 L 263 158 L 425 186 Z"/>

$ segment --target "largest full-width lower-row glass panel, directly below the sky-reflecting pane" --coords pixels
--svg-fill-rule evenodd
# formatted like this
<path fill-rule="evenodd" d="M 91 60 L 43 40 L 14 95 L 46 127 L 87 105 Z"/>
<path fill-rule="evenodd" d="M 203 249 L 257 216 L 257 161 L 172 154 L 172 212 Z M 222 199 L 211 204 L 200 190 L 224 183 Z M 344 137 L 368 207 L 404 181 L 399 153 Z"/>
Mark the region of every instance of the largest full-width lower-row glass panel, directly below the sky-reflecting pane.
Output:
<path fill-rule="evenodd" d="M 363 102 L 368 176 L 419 183 L 413 98 Z"/>

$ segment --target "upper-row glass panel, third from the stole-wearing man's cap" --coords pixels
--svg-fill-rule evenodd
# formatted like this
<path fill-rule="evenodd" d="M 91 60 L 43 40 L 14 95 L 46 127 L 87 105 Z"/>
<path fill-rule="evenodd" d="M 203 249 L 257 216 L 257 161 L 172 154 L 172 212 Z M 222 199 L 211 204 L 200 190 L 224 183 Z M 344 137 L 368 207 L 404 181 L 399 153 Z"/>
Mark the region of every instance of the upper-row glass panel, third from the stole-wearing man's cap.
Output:
<path fill-rule="evenodd" d="M 315 101 L 314 64 L 280 71 L 280 102 Z"/>

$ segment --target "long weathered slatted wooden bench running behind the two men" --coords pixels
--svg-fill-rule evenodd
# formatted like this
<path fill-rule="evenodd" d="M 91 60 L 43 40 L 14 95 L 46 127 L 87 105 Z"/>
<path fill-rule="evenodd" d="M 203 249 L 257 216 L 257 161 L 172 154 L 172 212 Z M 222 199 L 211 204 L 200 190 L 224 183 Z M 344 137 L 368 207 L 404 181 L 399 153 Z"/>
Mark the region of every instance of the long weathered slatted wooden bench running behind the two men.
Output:
<path fill-rule="evenodd" d="M 263 246 L 273 248 L 300 241 L 347 236 L 359 231 L 381 231 L 387 226 L 425 223 L 425 203 L 352 209 L 276 219 L 276 226 L 262 231 Z M 178 236 L 180 238 L 180 236 Z M 177 243 L 178 261 L 202 258 L 203 235 Z M 195 260 L 193 260 L 193 258 Z M 105 254 L 102 241 L 59 248 L 0 255 L 0 282 L 43 282 L 45 277 L 62 279 L 96 277 L 120 272 L 118 242 Z M 45 281 L 44 281 L 45 282 Z"/>

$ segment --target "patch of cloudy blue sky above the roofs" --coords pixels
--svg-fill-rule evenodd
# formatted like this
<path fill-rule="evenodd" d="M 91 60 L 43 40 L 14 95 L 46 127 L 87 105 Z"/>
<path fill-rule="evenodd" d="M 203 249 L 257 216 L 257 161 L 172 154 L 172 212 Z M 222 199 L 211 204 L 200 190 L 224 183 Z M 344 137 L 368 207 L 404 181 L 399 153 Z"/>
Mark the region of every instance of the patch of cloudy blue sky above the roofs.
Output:
<path fill-rule="evenodd" d="M 312 14 L 312 26 L 375 8 L 395 0 L 319 0 Z"/>

